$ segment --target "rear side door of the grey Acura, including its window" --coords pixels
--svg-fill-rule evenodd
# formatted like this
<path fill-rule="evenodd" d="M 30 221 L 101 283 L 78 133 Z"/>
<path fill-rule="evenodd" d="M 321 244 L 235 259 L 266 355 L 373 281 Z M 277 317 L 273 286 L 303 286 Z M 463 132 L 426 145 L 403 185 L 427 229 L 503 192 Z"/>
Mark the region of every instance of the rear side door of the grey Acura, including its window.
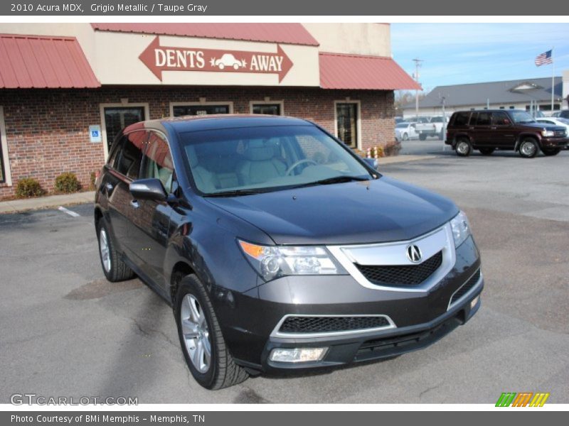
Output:
<path fill-rule="evenodd" d="M 115 166 L 103 183 L 109 197 L 109 214 L 112 232 L 120 251 L 136 266 L 140 264 L 140 234 L 136 226 L 136 200 L 129 191 L 130 182 L 139 178 L 142 152 L 147 134 L 133 131 L 122 136 L 120 151 Z"/>

